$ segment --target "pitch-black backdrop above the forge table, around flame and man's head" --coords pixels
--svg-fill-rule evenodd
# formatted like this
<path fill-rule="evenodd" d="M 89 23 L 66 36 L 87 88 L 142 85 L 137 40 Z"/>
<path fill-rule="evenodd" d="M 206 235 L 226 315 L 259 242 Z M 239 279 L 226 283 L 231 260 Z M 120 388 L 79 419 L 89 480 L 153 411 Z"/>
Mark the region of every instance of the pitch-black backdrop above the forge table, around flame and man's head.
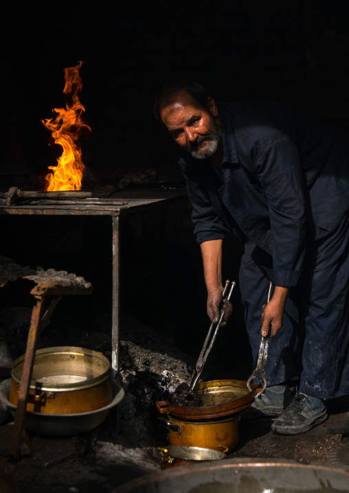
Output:
<path fill-rule="evenodd" d="M 200 80 L 217 100 L 272 99 L 346 135 L 346 0 L 16 2 L 1 26 L 0 164 L 45 172 L 56 163 L 41 119 L 64 103 L 65 67 L 78 60 L 82 157 L 100 179 L 130 168 L 175 168 L 153 118 L 173 76 Z"/>

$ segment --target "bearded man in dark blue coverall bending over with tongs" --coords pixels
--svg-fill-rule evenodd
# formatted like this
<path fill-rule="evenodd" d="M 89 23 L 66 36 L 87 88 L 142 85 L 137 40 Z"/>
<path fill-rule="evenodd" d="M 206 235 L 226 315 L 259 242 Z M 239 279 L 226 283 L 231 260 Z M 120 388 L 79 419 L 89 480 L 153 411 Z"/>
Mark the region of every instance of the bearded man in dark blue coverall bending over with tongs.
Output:
<path fill-rule="evenodd" d="M 223 238 L 233 230 L 245 244 L 240 292 L 255 366 L 261 333 L 273 338 L 253 413 L 276 417 L 274 433 L 305 433 L 326 420 L 324 400 L 349 393 L 349 148 L 289 108 L 216 104 L 192 81 L 164 87 L 155 116 L 180 147 L 211 319 Z"/>

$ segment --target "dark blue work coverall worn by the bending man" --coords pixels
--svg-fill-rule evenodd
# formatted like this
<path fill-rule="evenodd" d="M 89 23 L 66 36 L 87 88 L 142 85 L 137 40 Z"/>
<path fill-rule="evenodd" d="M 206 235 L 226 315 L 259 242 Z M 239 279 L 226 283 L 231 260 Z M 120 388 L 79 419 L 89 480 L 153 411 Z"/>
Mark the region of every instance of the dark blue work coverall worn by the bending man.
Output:
<path fill-rule="evenodd" d="M 232 229 L 245 243 L 240 291 L 255 366 L 269 281 L 291 288 L 269 344 L 267 385 L 300 380 L 300 392 L 312 397 L 346 395 L 349 147 L 323 124 L 273 102 L 217 107 L 222 174 L 210 159 L 179 155 L 196 241 Z"/>

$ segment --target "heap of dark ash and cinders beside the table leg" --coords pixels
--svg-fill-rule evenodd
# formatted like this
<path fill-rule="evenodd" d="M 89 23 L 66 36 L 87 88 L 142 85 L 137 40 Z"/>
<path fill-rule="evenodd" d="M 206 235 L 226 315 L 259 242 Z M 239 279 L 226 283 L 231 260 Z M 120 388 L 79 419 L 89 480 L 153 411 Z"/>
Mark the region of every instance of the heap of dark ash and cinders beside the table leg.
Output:
<path fill-rule="evenodd" d="M 159 424 L 156 402 L 166 400 L 179 384 L 190 381 L 195 362 L 171 339 L 133 317 L 122 317 L 120 325 L 117 381 L 125 397 L 107 418 L 98 439 L 125 447 L 164 446 L 168 432 Z"/>

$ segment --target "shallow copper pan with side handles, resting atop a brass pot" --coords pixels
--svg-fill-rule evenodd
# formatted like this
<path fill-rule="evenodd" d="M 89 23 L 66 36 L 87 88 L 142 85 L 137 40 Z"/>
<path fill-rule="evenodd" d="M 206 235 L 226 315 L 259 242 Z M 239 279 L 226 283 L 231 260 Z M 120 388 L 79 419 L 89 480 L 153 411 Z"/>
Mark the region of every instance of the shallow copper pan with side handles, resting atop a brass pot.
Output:
<path fill-rule="evenodd" d="M 208 420 L 240 413 L 249 407 L 260 389 L 259 384 L 247 389 L 241 380 L 211 380 L 196 385 L 195 391 L 203 406 L 185 407 L 172 404 L 170 400 L 156 403 L 159 413 L 170 413 L 172 417 L 182 420 Z"/>

